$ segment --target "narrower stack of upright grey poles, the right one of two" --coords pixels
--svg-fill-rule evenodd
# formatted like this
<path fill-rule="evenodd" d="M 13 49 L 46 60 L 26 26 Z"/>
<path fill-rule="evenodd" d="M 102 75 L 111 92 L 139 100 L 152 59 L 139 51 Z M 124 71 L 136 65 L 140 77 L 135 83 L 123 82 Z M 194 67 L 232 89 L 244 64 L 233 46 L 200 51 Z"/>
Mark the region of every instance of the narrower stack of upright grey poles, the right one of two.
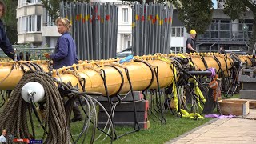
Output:
<path fill-rule="evenodd" d="M 171 4 L 134 4 L 134 54 L 169 53 L 172 16 Z"/>

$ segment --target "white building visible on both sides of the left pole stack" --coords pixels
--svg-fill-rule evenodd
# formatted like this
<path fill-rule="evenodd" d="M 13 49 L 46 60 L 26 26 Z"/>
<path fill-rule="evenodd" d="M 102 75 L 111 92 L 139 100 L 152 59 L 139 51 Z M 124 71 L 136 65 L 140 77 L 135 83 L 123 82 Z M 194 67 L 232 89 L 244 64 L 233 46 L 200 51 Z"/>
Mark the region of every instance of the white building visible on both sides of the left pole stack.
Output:
<path fill-rule="evenodd" d="M 130 5 L 118 0 L 91 0 L 90 2 L 114 2 L 118 6 L 118 46 L 122 51 L 131 46 L 132 11 Z M 41 0 L 18 0 L 18 43 L 31 46 L 54 47 L 58 37 L 57 26 L 50 18 Z"/>

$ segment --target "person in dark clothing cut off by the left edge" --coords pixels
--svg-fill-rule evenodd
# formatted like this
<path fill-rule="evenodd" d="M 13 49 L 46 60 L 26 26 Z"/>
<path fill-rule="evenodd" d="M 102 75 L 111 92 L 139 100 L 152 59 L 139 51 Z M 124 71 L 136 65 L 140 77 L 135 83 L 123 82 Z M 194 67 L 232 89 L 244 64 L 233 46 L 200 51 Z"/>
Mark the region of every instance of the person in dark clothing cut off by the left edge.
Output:
<path fill-rule="evenodd" d="M 0 1 L 0 18 L 6 13 L 6 5 L 2 0 Z M 14 48 L 10 44 L 9 38 L 6 36 L 6 30 L 4 29 L 2 19 L 0 19 L 0 47 L 2 51 L 11 59 L 15 59 Z"/>

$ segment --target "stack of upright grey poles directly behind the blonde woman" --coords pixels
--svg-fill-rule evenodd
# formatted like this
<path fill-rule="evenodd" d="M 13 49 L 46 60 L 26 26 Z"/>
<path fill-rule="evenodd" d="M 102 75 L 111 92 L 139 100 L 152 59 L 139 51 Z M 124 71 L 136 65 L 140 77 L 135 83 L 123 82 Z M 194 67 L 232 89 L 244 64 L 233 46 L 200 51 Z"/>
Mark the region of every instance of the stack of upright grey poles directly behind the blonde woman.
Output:
<path fill-rule="evenodd" d="M 78 59 L 114 58 L 117 47 L 118 7 L 110 3 L 62 2 L 61 16 L 72 22 Z"/>

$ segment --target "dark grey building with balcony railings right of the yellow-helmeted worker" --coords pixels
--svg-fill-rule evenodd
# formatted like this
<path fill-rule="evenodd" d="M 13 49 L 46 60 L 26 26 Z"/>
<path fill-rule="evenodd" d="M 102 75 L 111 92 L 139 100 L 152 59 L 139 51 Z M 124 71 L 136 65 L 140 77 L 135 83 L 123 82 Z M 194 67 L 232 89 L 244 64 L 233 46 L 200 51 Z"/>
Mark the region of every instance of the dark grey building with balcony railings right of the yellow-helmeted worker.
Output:
<path fill-rule="evenodd" d="M 220 46 L 224 46 L 226 50 L 248 50 L 254 21 L 251 11 L 233 21 L 223 13 L 223 9 L 214 9 L 212 18 L 205 34 L 198 35 L 199 51 L 216 52 Z"/>

